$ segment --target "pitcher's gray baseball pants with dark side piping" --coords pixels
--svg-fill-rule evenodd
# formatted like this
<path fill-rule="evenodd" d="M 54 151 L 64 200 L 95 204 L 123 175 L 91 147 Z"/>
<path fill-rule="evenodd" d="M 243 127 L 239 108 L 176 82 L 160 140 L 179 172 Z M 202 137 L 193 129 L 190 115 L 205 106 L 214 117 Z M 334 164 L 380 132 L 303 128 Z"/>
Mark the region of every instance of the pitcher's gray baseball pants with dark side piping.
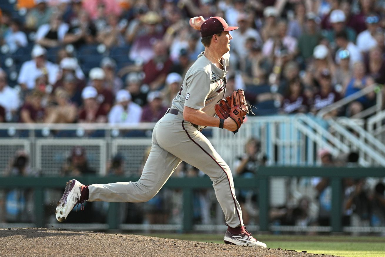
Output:
<path fill-rule="evenodd" d="M 156 123 L 151 151 L 139 181 L 92 184 L 88 187 L 88 201 L 146 202 L 159 192 L 182 160 L 203 171 L 213 181 L 227 225 L 243 226 L 229 166 L 209 140 L 190 122 L 183 120 L 181 113 L 167 113 Z"/>

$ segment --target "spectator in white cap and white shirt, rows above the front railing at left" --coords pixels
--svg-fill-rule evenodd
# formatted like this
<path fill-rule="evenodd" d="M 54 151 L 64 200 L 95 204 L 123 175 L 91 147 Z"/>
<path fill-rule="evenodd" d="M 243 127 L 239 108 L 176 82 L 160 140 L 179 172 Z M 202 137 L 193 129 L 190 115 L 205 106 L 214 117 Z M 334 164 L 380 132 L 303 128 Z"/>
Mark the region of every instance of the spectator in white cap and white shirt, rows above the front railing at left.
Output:
<path fill-rule="evenodd" d="M 47 76 L 50 85 L 55 84 L 59 68 L 56 64 L 47 61 L 46 53 L 45 48 L 35 45 L 31 53 L 33 59 L 23 63 L 17 79 L 23 90 L 33 89 L 35 79 L 41 75 Z"/>

